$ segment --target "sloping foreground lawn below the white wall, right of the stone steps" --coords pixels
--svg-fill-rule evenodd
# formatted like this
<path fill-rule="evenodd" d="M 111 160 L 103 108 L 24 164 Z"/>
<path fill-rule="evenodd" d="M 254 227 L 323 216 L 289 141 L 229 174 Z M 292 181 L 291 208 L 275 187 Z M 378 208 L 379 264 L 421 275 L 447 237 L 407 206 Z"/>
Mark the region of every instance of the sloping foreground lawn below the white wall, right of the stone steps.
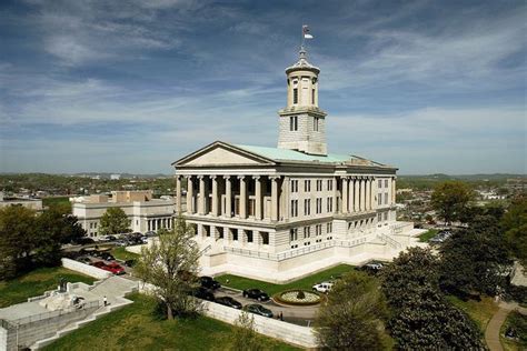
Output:
<path fill-rule="evenodd" d="M 189 320 L 161 320 L 156 301 L 132 294 L 135 303 L 87 324 L 57 340 L 44 350 L 225 350 L 232 337 L 230 324 L 199 317 Z M 261 337 L 272 350 L 299 350 Z"/>

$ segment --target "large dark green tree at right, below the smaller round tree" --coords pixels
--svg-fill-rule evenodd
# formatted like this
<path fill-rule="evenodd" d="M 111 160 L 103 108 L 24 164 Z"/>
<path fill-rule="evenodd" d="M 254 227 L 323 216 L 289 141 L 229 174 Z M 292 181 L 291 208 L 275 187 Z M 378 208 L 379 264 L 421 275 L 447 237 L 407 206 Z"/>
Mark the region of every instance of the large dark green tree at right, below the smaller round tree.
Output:
<path fill-rule="evenodd" d="M 470 228 L 453 234 L 440 248 L 441 289 L 465 298 L 494 295 L 505 283 L 508 248 L 493 215 L 478 215 Z"/>

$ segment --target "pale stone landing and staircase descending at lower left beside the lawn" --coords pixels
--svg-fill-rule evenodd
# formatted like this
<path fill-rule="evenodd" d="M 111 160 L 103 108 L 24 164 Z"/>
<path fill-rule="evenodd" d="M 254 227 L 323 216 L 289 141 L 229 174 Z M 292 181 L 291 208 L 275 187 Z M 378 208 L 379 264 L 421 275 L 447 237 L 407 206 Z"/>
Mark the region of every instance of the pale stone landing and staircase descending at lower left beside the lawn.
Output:
<path fill-rule="evenodd" d="M 90 297 L 99 299 L 101 305 L 93 313 L 88 315 L 88 318 L 73 322 L 71 324 L 66 325 L 61 330 L 57 331 L 57 333 L 50 338 L 42 339 L 37 341 L 31 345 L 31 350 L 40 350 L 41 348 L 52 343 L 53 341 L 58 340 L 59 338 L 64 337 L 66 334 L 110 313 L 116 310 L 119 310 L 128 304 L 133 303 L 133 301 L 128 300 L 125 298 L 126 294 L 138 291 L 139 285 L 138 282 L 131 281 L 120 277 L 110 277 L 102 281 L 97 282 L 96 284 L 89 287 L 88 291 L 79 292 L 79 295 Z M 102 305 L 102 299 L 107 297 L 108 305 Z"/>

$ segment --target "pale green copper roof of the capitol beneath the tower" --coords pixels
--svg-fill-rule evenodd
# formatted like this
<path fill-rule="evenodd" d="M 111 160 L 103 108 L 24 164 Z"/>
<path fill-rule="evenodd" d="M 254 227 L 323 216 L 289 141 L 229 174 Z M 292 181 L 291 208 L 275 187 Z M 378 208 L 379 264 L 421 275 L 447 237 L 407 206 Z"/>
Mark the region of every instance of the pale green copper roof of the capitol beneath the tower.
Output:
<path fill-rule="evenodd" d="M 237 148 L 243 149 L 246 151 L 257 153 L 265 158 L 277 160 L 277 161 L 304 161 L 304 162 L 329 162 L 329 163 L 340 163 L 346 162 L 354 157 L 348 154 L 337 154 L 328 153 L 327 156 L 316 156 L 307 154 L 300 151 L 289 150 L 289 149 L 278 149 L 278 148 L 266 148 L 266 147 L 255 147 L 255 146 L 235 146 Z"/>

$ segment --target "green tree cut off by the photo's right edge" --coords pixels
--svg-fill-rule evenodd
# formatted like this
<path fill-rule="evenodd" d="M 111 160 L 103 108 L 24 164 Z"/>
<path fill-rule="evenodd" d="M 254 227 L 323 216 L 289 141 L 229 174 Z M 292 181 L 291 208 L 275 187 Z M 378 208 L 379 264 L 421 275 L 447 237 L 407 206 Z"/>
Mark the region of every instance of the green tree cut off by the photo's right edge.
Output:
<path fill-rule="evenodd" d="M 527 195 L 513 200 L 501 219 L 509 250 L 524 267 L 527 267 Z"/>

